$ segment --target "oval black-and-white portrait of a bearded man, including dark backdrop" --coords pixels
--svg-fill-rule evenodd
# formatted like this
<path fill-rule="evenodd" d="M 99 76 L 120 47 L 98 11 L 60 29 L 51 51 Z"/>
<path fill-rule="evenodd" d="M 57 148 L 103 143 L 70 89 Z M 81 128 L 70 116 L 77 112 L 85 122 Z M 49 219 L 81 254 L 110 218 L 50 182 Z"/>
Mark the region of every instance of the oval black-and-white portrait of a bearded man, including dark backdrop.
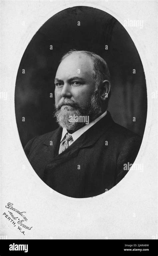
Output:
<path fill-rule="evenodd" d="M 86 198 L 114 187 L 137 157 L 147 115 L 143 66 L 124 26 L 86 6 L 51 17 L 20 62 L 15 113 L 25 154 L 50 188 Z"/>

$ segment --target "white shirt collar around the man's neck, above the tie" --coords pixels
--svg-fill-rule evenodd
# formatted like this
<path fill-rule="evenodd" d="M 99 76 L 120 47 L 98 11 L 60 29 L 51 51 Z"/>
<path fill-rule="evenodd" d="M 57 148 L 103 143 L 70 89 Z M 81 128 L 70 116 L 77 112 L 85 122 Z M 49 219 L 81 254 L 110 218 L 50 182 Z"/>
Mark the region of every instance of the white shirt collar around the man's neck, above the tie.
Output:
<path fill-rule="evenodd" d="M 100 119 L 102 119 L 104 116 L 106 116 L 107 111 L 105 111 L 103 114 L 101 114 L 99 117 L 97 117 L 95 120 L 93 120 L 92 122 L 90 122 L 89 124 L 86 124 L 85 126 L 83 126 L 82 128 L 80 128 L 79 130 L 77 130 L 76 132 L 72 133 L 72 138 L 73 141 L 77 140 L 85 131 L 87 131 L 91 126 L 93 126 L 95 123 L 97 123 Z M 67 129 L 63 128 L 62 131 L 62 136 L 61 136 L 61 141 L 63 140 L 63 138 L 65 137 L 66 133 L 67 133 Z M 68 133 L 69 134 L 69 133 Z"/>

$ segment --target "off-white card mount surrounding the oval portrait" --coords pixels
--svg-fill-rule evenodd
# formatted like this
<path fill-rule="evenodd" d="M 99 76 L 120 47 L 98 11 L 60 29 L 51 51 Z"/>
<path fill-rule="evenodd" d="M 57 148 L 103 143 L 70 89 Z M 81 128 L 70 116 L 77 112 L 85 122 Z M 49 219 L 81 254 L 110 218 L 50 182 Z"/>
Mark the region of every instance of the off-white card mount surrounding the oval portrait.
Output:
<path fill-rule="evenodd" d="M 152 3 L 154 3 L 153 1 Z M 2 1 L 2 10 L 5 9 L 9 11 L 7 14 L 7 17 L 10 18 L 10 22 L 12 22 L 11 19 L 18 25 L 18 22 L 22 23 L 22 20 L 20 20 L 20 17 L 17 14 L 17 17 L 14 17 L 11 15 L 11 11 L 13 10 L 13 13 L 15 15 L 16 7 L 18 1 L 9 1 L 10 6 L 5 1 Z M 14 6 L 15 3 L 15 6 Z M 28 4 L 29 3 L 29 4 Z M 46 4 L 46 6 L 43 9 L 43 3 Z M 133 5 L 135 5 L 132 10 L 129 11 Z M 3 116 L 4 120 L 4 128 L 3 128 L 3 134 L 4 138 L 7 137 L 6 140 L 2 140 L 2 145 L 4 148 L 4 156 L 6 157 L 6 162 L 8 165 L 4 164 L 4 171 L 2 173 L 2 180 L 3 180 L 3 203 L 2 208 L 4 209 L 4 205 L 6 202 L 13 202 L 14 205 L 16 205 L 16 208 L 25 208 L 25 211 L 29 214 L 29 222 L 32 223 L 31 226 L 34 226 L 34 230 L 27 232 L 25 237 L 22 237 L 21 234 L 19 234 L 19 231 L 13 229 L 11 225 L 7 227 L 8 223 L 6 220 L 2 219 L 4 222 L 4 229 L 9 233 L 8 238 L 17 238 L 17 239 L 31 239 L 31 238 L 92 238 L 92 239 L 123 239 L 123 238 L 129 238 L 129 239 L 140 239 L 140 238 L 149 238 L 152 239 L 152 236 L 156 234 L 156 228 L 155 228 L 155 216 L 156 212 L 154 211 L 154 214 L 151 217 L 152 213 L 152 205 L 150 199 L 155 199 L 155 189 L 157 187 L 156 183 L 156 159 L 153 160 L 152 156 L 154 154 L 150 154 L 151 150 L 153 151 L 153 143 L 155 142 L 155 138 L 153 138 L 152 133 L 155 132 L 156 127 L 154 126 L 154 120 L 153 116 L 154 113 L 156 113 L 156 103 L 154 100 L 151 99 L 151 93 L 156 90 L 156 83 L 154 80 L 154 71 L 156 67 L 153 65 L 156 62 L 156 57 L 154 56 L 154 47 L 153 47 L 153 40 L 150 38 L 150 34 L 154 33 L 154 29 L 151 27 L 151 25 L 154 23 L 152 19 L 154 19 L 154 15 L 151 16 L 150 12 L 148 12 L 146 9 L 142 8 L 141 3 L 143 3 L 143 6 L 147 6 L 148 9 L 152 10 L 154 12 L 154 5 L 151 4 L 151 1 L 148 3 L 148 1 L 19 1 L 18 4 L 18 12 L 23 11 L 23 18 L 27 21 L 27 25 L 24 28 L 23 31 L 20 31 L 19 41 L 17 44 L 16 39 L 12 38 L 13 40 L 9 42 L 10 38 L 7 37 L 7 33 L 4 33 L 4 36 L 2 37 L 2 43 L 1 43 L 1 49 L 2 49 L 2 61 L 7 66 L 7 69 L 10 71 L 9 76 L 6 79 L 6 74 L 4 72 L 4 76 L 2 77 L 2 81 L 4 82 L 4 88 L 10 92 L 9 95 L 9 101 L 4 102 L 3 104 L 3 110 L 7 110 L 8 112 L 5 114 L 7 115 L 6 121 Z M 31 8 L 35 7 L 35 4 L 37 4 L 38 8 L 37 10 Z M 150 4 L 148 6 L 147 4 Z M 41 7 L 40 7 L 41 5 Z M 145 133 L 143 137 L 143 142 L 141 145 L 141 149 L 138 153 L 138 156 L 136 158 L 135 163 L 143 163 L 144 164 L 144 172 L 138 173 L 137 171 L 128 172 L 128 174 L 125 176 L 125 178 L 114 188 L 112 188 L 107 193 L 104 193 L 102 195 L 99 195 L 97 197 L 93 198 L 83 198 L 83 199 L 76 199 L 76 198 L 70 198 L 66 197 L 64 195 L 59 194 L 56 191 L 51 190 L 44 182 L 38 177 L 38 175 L 33 171 L 30 163 L 28 162 L 23 149 L 22 145 L 20 143 L 19 134 L 17 130 L 16 125 L 16 119 L 15 119 L 15 111 L 14 111 L 14 91 L 15 91 L 15 81 L 17 76 L 17 71 L 19 68 L 19 64 L 22 58 L 22 55 L 34 36 L 34 34 L 39 30 L 39 28 L 54 14 L 58 13 L 59 11 L 73 7 L 73 6 L 90 6 L 94 8 L 101 9 L 112 16 L 114 16 L 120 23 L 123 24 L 123 20 L 129 18 L 134 18 L 135 13 L 139 11 L 140 17 L 144 17 L 146 28 L 143 28 L 142 30 L 138 30 L 136 28 L 126 28 L 127 32 L 131 36 L 138 53 L 140 55 L 145 76 L 146 76 L 146 84 L 147 84 L 147 95 L 148 95 L 148 113 L 147 113 L 147 124 L 145 128 Z M 141 6 L 141 8 L 140 8 Z M 10 9 L 8 9 L 10 8 Z M 12 8 L 12 10 L 11 10 Z M 26 8 L 26 9 L 25 9 Z M 156 7 L 155 7 L 156 8 Z M 142 10 L 141 10 L 142 9 Z M 5 11 L 6 11 L 5 10 Z M 119 13 L 116 14 L 116 13 Z M 9 15 L 11 17 L 9 17 Z M 156 15 L 156 13 L 155 13 Z M 122 17 L 122 18 L 121 18 Z M 140 18 L 142 19 L 142 18 Z M 149 21 L 152 20 L 152 24 L 150 25 Z M 8 23 L 5 25 L 3 22 L 3 16 L 2 16 L 2 25 L 4 25 L 4 29 L 10 29 L 8 32 L 11 33 L 11 28 L 17 33 L 18 35 L 18 27 L 15 29 L 13 26 L 8 25 Z M 20 27 L 20 25 L 19 25 Z M 3 32 L 3 29 L 2 29 Z M 156 34 L 156 33 L 155 33 Z M 152 34 L 153 35 L 153 34 Z M 145 40 L 145 37 L 146 40 Z M 154 38 L 156 39 L 156 37 Z M 6 46 L 5 43 L 8 45 L 13 45 L 13 52 L 6 52 Z M 150 48 L 152 46 L 152 48 Z M 154 44 L 155 46 L 155 44 Z M 13 57 L 14 53 L 14 57 Z M 10 56 L 9 56 L 10 54 Z M 5 61 L 5 55 L 7 56 L 7 59 Z M 8 62 L 8 60 L 10 62 Z M 9 64 L 8 64 L 9 63 Z M 151 68 L 152 65 L 152 68 Z M 3 70 L 3 67 L 2 67 Z M 4 79 L 4 80 L 3 80 Z M 11 130 L 12 128 L 12 130 Z M 11 143 L 11 144 L 10 144 Z M 8 156 L 8 146 L 10 145 L 10 152 L 11 154 Z M 25 170 L 22 170 L 22 166 L 25 166 Z M 150 169 L 149 169 L 150 168 Z M 152 171 L 152 173 L 151 173 Z M 16 174 L 16 175 L 15 175 Z M 152 174 L 152 175 L 151 175 Z M 17 179 L 18 175 L 18 179 Z M 25 179 L 25 183 L 23 183 L 23 179 Z M 31 180 L 31 185 L 30 185 Z M 10 186 L 10 182 L 14 184 L 14 188 L 11 187 L 11 189 L 8 191 L 8 187 Z M 30 188 L 30 191 L 27 190 L 27 185 Z M 22 189 L 24 188 L 24 191 Z M 148 193 L 146 194 L 146 190 L 144 191 L 144 188 L 149 189 Z M 152 189 L 154 188 L 154 191 Z M 6 196 L 5 191 L 8 191 L 8 194 Z M 142 192 L 144 195 L 142 196 Z M 32 198 L 29 200 L 29 195 L 33 193 Z M 24 201 L 25 195 L 28 195 L 28 199 Z M 40 222 L 39 219 L 43 219 L 44 216 L 44 210 L 40 212 L 40 216 L 38 216 L 38 219 L 36 217 L 36 211 L 34 209 L 34 201 L 37 201 L 37 198 L 40 197 L 43 199 L 42 201 L 42 208 L 46 208 L 48 211 L 48 217 L 49 219 L 54 216 L 58 221 L 55 222 L 55 230 L 58 229 L 59 233 L 52 231 L 51 228 L 54 227 L 53 225 L 49 224 L 47 220 L 45 219 L 44 222 Z M 46 203 L 49 202 L 49 206 Z M 141 199 L 141 200 L 140 200 Z M 119 201 L 120 200 L 120 201 Z M 135 201 L 134 201 L 135 200 Z M 85 204 L 86 202 L 86 204 Z M 155 203 L 155 201 L 154 201 Z M 53 210 L 53 206 L 58 208 L 58 211 Z M 38 203 L 37 203 L 38 205 Z M 69 216 L 63 217 L 62 214 L 62 206 L 65 205 L 65 209 Z M 96 209 L 94 209 L 94 205 L 96 205 Z M 133 205 L 133 209 L 131 208 L 131 205 Z M 136 207 L 137 206 L 137 207 Z M 147 208 L 150 206 L 149 213 L 144 215 L 144 212 L 146 212 Z M 77 222 L 80 222 L 76 224 L 76 215 L 72 214 L 72 208 L 74 210 L 74 214 L 76 211 L 78 213 L 82 213 L 83 219 L 81 220 L 81 217 L 77 217 Z M 138 210 L 140 208 L 140 210 Z M 120 213 L 120 209 L 122 210 L 122 215 Z M 127 215 L 124 213 L 124 209 L 126 211 L 126 214 L 129 215 L 127 218 Z M 98 210 L 100 210 L 98 212 Z M 138 215 L 138 219 L 136 220 L 136 217 L 132 217 L 132 211 L 133 214 Z M 119 212 L 119 213 L 118 213 Z M 98 215 L 100 219 L 98 219 Z M 86 216 L 88 214 L 88 217 Z M 60 223 L 60 218 L 62 219 L 62 225 Z M 77 215 L 78 216 L 78 215 Z M 135 215 L 133 215 L 135 216 Z M 80 220 L 80 221 L 79 221 Z M 135 221 L 136 220 L 136 221 Z M 143 223 L 142 223 L 143 220 Z M 118 226 L 115 225 L 116 221 L 119 223 Z M 131 221 L 131 224 L 129 223 Z M 67 222 L 67 224 L 63 225 L 63 222 Z M 71 224 L 73 223 L 73 227 Z M 92 225 L 88 225 L 87 229 L 84 229 L 84 226 L 87 225 L 87 223 L 92 223 Z M 146 224 L 148 223 L 148 225 Z M 101 226 L 104 226 L 104 229 L 101 228 Z M 148 229 L 147 229 L 147 226 Z M 126 226 L 130 228 L 131 230 L 127 230 Z M 69 230 L 72 228 L 73 233 L 69 232 Z M 110 228 L 111 227 L 111 228 Z M 96 230 L 96 228 L 98 228 Z M 79 232 L 77 231 L 79 229 Z M 63 232 L 63 230 L 65 232 Z M 5 231 L 5 232 L 6 232 Z M 53 234 L 52 234 L 53 233 Z M 84 233 L 84 234 L 83 234 Z"/>

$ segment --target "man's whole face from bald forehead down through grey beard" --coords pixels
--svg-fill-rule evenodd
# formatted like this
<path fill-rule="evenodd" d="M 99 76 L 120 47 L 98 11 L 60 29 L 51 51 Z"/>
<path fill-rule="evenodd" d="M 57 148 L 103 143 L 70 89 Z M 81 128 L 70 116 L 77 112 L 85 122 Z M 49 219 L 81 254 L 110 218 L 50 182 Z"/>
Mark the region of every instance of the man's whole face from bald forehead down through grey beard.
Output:
<path fill-rule="evenodd" d="M 90 57 L 81 53 L 72 53 L 58 67 L 55 77 L 55 116 L 59 125 L 71 133 L 85 123 L 70 122 L 70 117 L 88 116 L 88 120 L 92 121 L 101 113 L 93 74 Z"/>

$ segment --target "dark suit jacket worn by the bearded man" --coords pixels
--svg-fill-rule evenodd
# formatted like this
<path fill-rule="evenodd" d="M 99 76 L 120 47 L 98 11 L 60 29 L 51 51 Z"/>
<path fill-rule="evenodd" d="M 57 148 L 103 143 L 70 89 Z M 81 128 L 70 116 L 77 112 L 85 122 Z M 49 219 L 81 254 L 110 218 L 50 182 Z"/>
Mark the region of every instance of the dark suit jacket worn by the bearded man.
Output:
<path fill-rule="evenodd" d="M 49 187 L 76 198 L 97 196 L 115 186 L 128 172 L 124 164 L 134 162 L 141 145 L 141 137 L 116 124 L 109 112 L 59 155 L 61 135 L 59 127 L 37 136 L 24 151 Z"/>

